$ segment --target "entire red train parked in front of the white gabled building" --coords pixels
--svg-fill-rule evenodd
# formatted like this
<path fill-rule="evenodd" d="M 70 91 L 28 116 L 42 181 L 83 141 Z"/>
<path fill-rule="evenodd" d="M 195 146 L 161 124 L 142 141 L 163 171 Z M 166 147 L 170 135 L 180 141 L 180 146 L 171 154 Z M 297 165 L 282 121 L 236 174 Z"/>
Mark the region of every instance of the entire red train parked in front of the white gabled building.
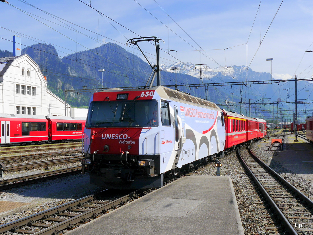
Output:
<path fill-rule="evenodd" d="M 85 118 L 0 114 L 1 144 L 82 139 Z"/>

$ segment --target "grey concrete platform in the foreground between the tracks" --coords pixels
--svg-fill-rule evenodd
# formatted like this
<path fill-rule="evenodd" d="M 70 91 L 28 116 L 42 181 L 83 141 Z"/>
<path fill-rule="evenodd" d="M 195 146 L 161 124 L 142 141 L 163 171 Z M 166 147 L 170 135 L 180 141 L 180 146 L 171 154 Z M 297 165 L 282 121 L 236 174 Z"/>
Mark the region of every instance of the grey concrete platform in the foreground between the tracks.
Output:
<path fill-rule="evenodd" d="M 66 234 L 244 235 L 244 231 L 229 177 L 186 176 Z"/>

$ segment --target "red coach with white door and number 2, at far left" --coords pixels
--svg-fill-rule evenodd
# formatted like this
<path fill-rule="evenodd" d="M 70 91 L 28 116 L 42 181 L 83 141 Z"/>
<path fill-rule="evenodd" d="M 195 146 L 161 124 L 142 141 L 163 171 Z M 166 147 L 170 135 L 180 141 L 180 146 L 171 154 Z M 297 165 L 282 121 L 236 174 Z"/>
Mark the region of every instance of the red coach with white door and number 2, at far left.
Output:
<path fill-rule="evenodd" d="M 0 114 L 1 144 L 48 141 L 48 120 L 44 116 Z"/>

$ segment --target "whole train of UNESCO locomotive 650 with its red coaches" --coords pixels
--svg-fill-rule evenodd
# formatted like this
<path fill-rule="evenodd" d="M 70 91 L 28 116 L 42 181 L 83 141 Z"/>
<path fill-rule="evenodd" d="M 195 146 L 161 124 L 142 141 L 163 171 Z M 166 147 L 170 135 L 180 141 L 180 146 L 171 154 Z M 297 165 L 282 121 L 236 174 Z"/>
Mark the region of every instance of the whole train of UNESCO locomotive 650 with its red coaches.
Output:
<path fill-rule="evenodd" d="M 82 169 L 100 187 L 162 187 L 165 177 L 266 135 L 262 119 L 162 86 L 111 88 L 90 101 Z"/>

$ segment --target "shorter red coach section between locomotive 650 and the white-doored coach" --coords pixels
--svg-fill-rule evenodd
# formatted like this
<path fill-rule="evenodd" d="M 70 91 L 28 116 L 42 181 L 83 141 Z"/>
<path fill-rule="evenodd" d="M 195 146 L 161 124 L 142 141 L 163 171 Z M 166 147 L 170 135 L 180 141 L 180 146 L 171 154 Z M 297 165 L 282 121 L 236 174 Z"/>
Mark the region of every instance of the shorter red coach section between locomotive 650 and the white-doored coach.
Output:
<path fill-rule="evenodd" d="M 85 118 L 47 116 L 49 141 L 82 140 Z"/>

